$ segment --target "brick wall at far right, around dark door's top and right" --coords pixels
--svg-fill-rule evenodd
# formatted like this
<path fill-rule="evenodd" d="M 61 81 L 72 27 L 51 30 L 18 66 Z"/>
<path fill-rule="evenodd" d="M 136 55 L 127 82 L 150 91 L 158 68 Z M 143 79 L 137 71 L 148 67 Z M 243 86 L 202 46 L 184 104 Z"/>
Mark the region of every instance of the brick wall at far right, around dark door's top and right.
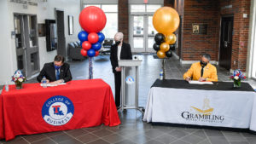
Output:
<path fill-rule="evenodd" d="M 234 35 L 232 37 L 231 69 L 246 71 L 247 65 L 247 43 L 250 18 L 250 0 L 219 0 L 219 13 L 221 15 L 234 15 Z M 232 5 L 232 8 L 225 6 Z M 243 18 L 247 14 L 247 18 Z M 234 61 L 236 61 L 234 63 Z"/>

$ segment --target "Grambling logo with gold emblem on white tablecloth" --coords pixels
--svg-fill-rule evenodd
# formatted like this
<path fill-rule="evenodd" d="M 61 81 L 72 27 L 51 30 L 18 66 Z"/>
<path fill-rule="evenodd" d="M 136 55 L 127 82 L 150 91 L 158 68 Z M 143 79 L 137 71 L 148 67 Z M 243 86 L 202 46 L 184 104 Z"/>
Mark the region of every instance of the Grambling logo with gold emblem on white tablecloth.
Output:
<path fill-rule="evenodd" d="M 189 121 L 201 121 L 208 123 L 222 123 L 224 121 L 224 116 L 212 114 L 214 109 L 210 107 L 210 100 L 207 97 L 204 99 L 202 109 L 193 106 L 191 106 L 191 108 L 192 112 L 182 112 L 182 118 Z"/>

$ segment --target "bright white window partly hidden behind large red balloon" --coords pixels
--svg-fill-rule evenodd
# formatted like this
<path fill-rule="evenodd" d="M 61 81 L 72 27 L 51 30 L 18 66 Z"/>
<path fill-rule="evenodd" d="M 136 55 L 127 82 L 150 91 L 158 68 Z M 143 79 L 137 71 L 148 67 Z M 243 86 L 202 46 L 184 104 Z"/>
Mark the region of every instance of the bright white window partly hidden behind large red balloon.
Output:
<path fill-rule="evenodd" d="M 117 4 L 86 4 L 84 8 L 96 6 L 104 11 L 107 17 L 107 23 L 102 33 L 106 39 L 113 39 L 113 36 L 118 32 L 118 5 Z"/>

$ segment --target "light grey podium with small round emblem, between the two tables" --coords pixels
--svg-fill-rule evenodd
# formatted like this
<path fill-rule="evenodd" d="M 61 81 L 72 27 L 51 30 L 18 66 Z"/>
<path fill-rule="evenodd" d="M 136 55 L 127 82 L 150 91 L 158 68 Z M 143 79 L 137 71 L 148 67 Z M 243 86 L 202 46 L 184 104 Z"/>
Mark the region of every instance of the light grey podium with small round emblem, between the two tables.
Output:
<path fill-rule="evenodd" d="M 143 107 L 138 107 L 138 66 L 141 66 L 143 60 L 134 57 L 133 60 L 119 60 L 119 66 L 122 67 L 121 74 L 121 108 L 137 109 L 144 113 Z"/>

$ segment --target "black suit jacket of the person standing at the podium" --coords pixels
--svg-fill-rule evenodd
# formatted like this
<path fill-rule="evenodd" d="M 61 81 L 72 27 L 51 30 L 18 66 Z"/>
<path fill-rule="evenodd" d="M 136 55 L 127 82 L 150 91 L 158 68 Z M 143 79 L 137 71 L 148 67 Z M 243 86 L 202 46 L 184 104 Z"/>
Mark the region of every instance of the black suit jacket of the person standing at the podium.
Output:
<path fill-rule="evenodd" d="M 119 66 L 118 57 L 117 57 L 118 46 L 112 45 L 110 50 L 111 50 L 110 61 L 111 61 L 112 69 L 113 69 L 113 72 L 116 72 L 115 67 Z M 122 44 L 120 60 L 132 60 L 131 46 L 129 43 Z"/>

